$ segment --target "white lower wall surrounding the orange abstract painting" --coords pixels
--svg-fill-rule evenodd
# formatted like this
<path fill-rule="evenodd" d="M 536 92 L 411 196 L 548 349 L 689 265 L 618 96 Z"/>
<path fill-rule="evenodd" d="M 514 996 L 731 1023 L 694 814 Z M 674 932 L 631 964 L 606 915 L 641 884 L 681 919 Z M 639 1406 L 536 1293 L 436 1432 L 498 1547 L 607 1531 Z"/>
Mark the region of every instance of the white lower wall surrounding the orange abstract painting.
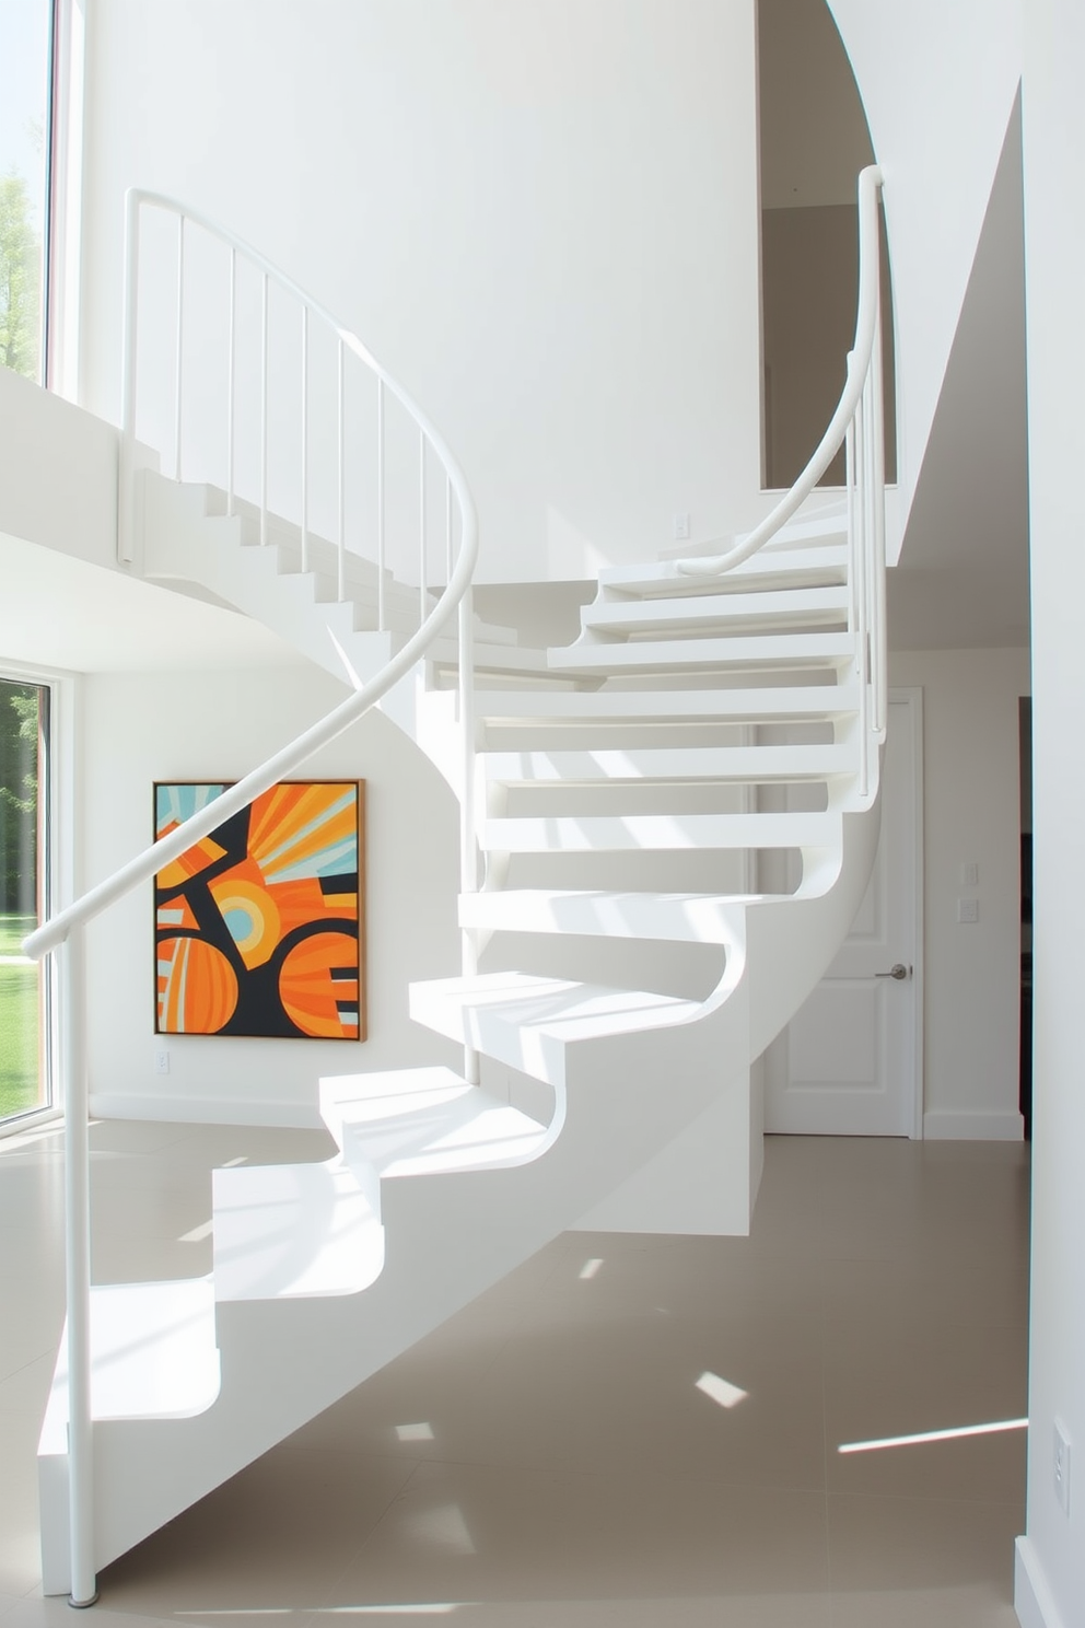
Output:
<path fill-rule="evenodd" d="M 342 697 L 314 669 L 96 674 L 83 681 L 80 871 L 145 847 L 155 780 L 236 778 Z M 457 809 L 426 759 L 371 713 L 309 765 L 366 780 L 369 1039 L 155 1039 L 153 912 L 137 891 L 88 931 L 91 1092 L 99 1112 L 316 1123 L 322 1073 L 455 1061 L 407 1016 L 407 983 L 459 970 Z M 169 1078 L 155 1050 L 169 1050 Z"/>

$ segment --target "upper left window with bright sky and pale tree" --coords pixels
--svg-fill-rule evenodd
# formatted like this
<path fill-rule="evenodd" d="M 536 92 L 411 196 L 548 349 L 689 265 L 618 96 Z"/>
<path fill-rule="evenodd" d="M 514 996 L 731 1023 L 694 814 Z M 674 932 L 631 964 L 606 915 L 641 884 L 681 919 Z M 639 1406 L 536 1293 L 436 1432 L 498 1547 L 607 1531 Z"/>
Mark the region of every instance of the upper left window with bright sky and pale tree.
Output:
<path fill-rule="evenodd" d="M 44 381 L 52 0 L 0 0 L 0 366 Z"/>

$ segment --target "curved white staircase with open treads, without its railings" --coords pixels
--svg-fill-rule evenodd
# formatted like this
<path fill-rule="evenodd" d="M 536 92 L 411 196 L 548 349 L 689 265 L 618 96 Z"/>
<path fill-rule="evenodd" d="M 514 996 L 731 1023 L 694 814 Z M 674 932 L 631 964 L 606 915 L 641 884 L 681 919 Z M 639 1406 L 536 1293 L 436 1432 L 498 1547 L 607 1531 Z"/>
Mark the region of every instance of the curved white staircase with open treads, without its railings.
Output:
<path fill-rule="evenodd" d="M 877 290 L 877 251 L 864 264 Z M 70 1547 L 60 1361 L 47 1592 L 72 1586 L 80 1543 L 106 1565 L 558 1231 L 747 1229 L 750 1065 L 836 952 L 877 845 L 877 503 L 852 444 L 872 344 L 823 461 L 851 423 L 848 518 L 804 511 L 732 570 L 604 571 L 563 650 L 468 614 L 384 695 L 473 811 L 460 923 L 478 970 L 410 991 L 464 1071 L 322 1079 L 337 1156 L 216 1171 L 210 1278 L 91 1291 L 93 1517 L 72 1503 Z M 259 617 L 359 692 L 410 641 L 418 588 L 215 488 L 145 472 L 138 493 L 137 568 Z"/>

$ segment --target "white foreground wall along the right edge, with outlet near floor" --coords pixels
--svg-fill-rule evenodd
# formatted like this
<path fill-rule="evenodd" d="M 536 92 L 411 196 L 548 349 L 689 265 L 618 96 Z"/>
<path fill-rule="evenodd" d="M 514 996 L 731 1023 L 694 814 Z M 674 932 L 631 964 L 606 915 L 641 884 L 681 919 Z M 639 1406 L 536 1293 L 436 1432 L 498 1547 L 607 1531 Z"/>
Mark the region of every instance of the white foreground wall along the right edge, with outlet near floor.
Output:
<path fill-rule="evenodd" d="M 1028 257 L 1028 438 L 1033 604 L 1033 834 L 1036 956 L 1031 1420 L 1028 1538 L 1017 1604 L 1028 1628 L 1085 1621 L 1085 467 L 1080 379 L 1085 329 L 1085 10 L 1030 0 L 1025 13 L 1025 249 Z M 1052 1424 L 1074 1442 L 1070 1512 L 1054 1495 Z"/>

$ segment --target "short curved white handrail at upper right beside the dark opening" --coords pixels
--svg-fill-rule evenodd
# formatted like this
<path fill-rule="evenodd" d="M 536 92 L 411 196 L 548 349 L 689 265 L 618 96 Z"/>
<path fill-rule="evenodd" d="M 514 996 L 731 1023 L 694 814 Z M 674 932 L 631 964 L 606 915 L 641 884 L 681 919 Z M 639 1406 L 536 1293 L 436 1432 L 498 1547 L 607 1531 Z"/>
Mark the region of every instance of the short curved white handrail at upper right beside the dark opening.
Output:
<path fill-rule="evenodd" d="M 810 462 L 802 470 L 791 490 L 779 500 L 776 508 L 765 516 L 760 526 L 737 549 L 727 554 L 709 555 L 706 558 L 686 558 L 675 562 L 675 571 L 683 576 L 722 576 L 735 565 L 742 565 L 750 555 L 773 537 L 781 526 L 805 503 L 818 480 L 833 462 L 859 407 L 874 340 L 878 329 L 878 280 L 882 275 L 878 257 L 878 192 L 882 189 L 882 169 L 878 164 L 867 164 L 859 171 L 859 308 L 856 313 L 856 340 L 848 355 L 848 376 L 836 412 L 830 418 L 828 428 L 817 444 Z"/>

